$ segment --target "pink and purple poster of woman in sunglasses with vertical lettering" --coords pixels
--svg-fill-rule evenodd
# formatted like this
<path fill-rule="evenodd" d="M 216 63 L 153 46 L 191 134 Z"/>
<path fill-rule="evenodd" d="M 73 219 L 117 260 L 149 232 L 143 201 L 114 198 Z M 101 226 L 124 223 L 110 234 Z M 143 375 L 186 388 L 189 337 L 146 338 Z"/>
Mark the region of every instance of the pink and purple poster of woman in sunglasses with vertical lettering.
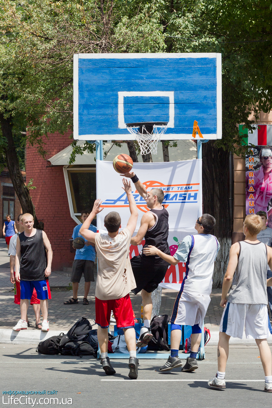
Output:
<path fill-rule="evenodd" d="M 265 211 L 272 227 L 272 146 L 255 146 L 245 159 L 246 214 Z"/>

